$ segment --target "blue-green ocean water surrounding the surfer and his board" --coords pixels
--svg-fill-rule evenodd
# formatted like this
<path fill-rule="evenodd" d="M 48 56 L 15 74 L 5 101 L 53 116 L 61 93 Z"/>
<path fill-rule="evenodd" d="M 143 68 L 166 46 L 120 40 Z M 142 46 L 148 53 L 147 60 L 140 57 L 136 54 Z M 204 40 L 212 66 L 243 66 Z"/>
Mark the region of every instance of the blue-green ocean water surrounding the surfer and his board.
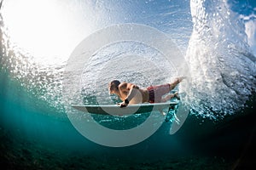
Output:
<path fill-rule="evenodd" d="M 255 166 L 253 0 L 3 0 L 0 4 L 1 167 Z M 121 34 L 113 30 L 127 27 L 139 33 L 128 35 L 129 41 L 117 41 L 115 38 L 125 37 L 127 30 Z M 108 34 L 101 36 L 102 32 Z M 153 39 L 155 35 L 150 32 L 157 38 L 163 33 L 172 40 L 171 46 L 161 38 Z M 80 47 L 83 49 L 78 54 Z M 166 62 L 165 52 L 179 62 Z M 75 62 L 86 53 L 90 57 Z M 100 128 L 84 129 L 84 124 L 97 122 L 101 127 L 125 132 L 121 130 L 140 127 L 150 113 L 90 116 L 70 106 L 118 102 L 108 95 L 108 82 L 113 78 L 146 88 L 170 82 L 181 72 L 189 83 L 174 90 L 182 93 L 182 105 L 169 112 L 169 122 L 161 122 L 161 115 L 153 116 L 152 127 L 156 131 L 137 144 L 113 147 L 96 143 L 91 136 L 104 141 L 108 140 L 108 133 L 97 136 Z M 182 111 L 187 111 L 185 118 L 179 115 Z M 178 123 L 175 114 L 184 122 Z M 174 124 L 177 132 L 170 134 Z M 83 130 L 91 136 L 84 135 Z"/>

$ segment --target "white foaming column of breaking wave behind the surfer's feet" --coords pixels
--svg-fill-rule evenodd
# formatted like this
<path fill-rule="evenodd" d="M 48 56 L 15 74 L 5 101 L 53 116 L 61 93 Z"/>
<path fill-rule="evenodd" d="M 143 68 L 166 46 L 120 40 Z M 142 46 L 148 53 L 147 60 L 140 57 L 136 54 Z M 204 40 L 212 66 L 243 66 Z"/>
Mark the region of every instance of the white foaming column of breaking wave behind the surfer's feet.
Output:
<path fill-rule="evenodd" d="M 194 29 L 186 60 L 190 65 L 193 110 L 232 114 L 255 91 L 256 58 L 250 53 L 245 26 L 227 3 L 190 2 Z"/>

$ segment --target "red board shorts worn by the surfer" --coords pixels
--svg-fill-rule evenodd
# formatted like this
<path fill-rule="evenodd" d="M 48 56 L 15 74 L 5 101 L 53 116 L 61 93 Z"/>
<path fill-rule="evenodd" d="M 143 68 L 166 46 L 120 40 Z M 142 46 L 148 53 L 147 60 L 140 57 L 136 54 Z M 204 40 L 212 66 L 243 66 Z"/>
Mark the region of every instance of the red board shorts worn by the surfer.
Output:
<path fill-rule="evenodd" d="M 170 84 L 160 86 L 149 86 L 147 88 L 149 94 L 149 103 L 160 103 L 162 96 L 170 92 Z"/>

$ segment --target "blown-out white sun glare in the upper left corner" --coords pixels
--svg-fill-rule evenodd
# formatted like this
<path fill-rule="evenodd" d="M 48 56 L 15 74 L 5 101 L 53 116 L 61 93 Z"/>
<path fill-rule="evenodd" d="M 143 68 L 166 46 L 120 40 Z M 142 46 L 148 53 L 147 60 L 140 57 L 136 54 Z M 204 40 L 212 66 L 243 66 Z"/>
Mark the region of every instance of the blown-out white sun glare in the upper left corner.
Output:
<path fill-rule="evenodd" d="M 11 41 L 37 62 L 53 64 L 67 60 L 84 38 L 77 15 L 59 0 L 9 0 L 4 3 L 3 19 Z M 88 24 L 90 26 L 90 24 Z M 87 25 L 87 26 L 88 26 Z M 81 32 L 83 31 L 83 32 Z"/>

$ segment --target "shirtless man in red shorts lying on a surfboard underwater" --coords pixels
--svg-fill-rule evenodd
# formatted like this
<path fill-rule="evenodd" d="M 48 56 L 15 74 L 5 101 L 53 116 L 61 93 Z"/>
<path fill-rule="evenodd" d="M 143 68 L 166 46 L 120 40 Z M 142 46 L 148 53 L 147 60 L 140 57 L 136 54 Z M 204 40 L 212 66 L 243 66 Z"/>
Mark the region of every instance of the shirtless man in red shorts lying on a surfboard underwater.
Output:
<path fill-rule="evenodd" d="M 130 82 L 119 82 L 113 80 L 108 84 L 109 94 L 116 94 L 123 102 L 120 107 L 139 103 L 161 103 L 166 102 L 173 97 L 177 97 L 177 93 L 168 94 L 179 82 L 185 77 L 177 77 L 173 82 L 159 86 L 149 86 L 146 89 L 139 88 L 137 85 Z M 167 95 L 166 95 L 167 94 Z M 164 96 L 166 95 L 166 96 Z M 163 97 L 164 96 L 164 97 Z"/>

